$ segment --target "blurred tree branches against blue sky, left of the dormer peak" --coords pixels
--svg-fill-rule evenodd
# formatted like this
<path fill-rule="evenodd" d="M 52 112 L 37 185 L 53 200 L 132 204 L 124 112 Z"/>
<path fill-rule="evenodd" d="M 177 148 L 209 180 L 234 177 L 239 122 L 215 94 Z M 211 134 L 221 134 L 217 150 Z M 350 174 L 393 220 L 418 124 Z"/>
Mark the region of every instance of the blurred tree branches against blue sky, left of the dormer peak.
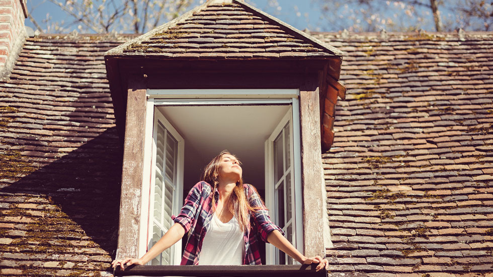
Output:
<path fill-rule="evenodd" d="M 46 2 L 54 4 L 59 11 L 48 13 L 42 21 L 29 16 L 40 31 L 63 33 L 76 27 L 83 33 L 145 33 L 178 17 L 195 1 L 44 0 L 32 6 L 29 14 L 43 5 L 46 7 Z M 53 13 L 66 19 L 53 20 Z"/>

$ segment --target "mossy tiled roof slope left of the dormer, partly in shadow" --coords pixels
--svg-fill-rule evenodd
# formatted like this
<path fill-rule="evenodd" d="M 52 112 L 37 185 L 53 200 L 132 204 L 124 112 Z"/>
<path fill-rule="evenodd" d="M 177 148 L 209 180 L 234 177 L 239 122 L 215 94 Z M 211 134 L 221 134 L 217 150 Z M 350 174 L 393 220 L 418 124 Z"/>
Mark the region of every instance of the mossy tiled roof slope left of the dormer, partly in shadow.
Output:
<path fill-rule="evenodd" d="M 28 38 L 0 83 L 0 275 L 108 275 L 121 153 L 104 52 L 128 37 Z"/>

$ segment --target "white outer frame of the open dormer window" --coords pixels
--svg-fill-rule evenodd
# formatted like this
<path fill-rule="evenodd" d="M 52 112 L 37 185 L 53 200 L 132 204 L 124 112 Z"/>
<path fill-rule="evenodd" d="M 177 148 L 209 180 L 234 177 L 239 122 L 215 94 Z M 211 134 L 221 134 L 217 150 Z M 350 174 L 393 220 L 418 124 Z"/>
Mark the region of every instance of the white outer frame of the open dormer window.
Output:
<path fill-rule="evenodd" d="M 145 119 L 145 135 L 144 135 L 144 172 L 142 191 L 150 193 L 151 169 L 152 169 L 152 151 L 153 151 L 153 123 L 154 109 L 156 106 L 215 106 L 215 105 L 272 105 L 272 104 L 291 104 L 292 110 L 292 155 L 294 160 L 294 178 L 293 187 L 295 188 L 295 216 L 299 219 L 295 228 L 293 228 L 293 238 L 297 242 L 295 247 L 303 252 L 303 226 L 302 226 L 302 197 L 301 197 L 301 132 L 300 132 L 300 116 L 299 116 L 299 89 L 147 89 L 147 107 Z M 167 121 L 168 122 L 168 121 Z M 169 122 L 168 122 L 169 124 Z M 171 124 L 170 130 L 175 130 Z M 166 126 L 165 126 L 166 127 Z M 284 125 L 283 125 L 284 127 Z M 168 127 L 167 127 L 168 128 Z M 177 132 L 178 134 L 178 132 Z M 181 144 L 183 147 L 183 141 Z M 180 150 L 179 150 L 180 151 Z M 181 163 L 183 172 L 183 158 Z M 266 168 L 266 170 L 268 170 Z M 180 172 L 180 171 L 179 171 Z M 179 176 L 182 178 L 181 176 Z M 148 181 L 145 181 L 148 180 Z M 183 182 L 183 180 L 182 180 Z M 266 183 L 267 186 L 267 183 Z M 268 200 L 266 188 L 266 206 L 269 210 L 275 207 Z M 183 206 L 183 185 L 179 193 L 180 209 Z M 147 245 L 150 238 L 147 237 L 147 228 L 149 226 L 149 194 L 142 194 L 141 202 L 141 226 L 139 239 L 139 256 L 142 256 L 147 251 Z M 178 214 L 179 210 L 175 212 Z M 294 236 L 296 234 L 296 237 Z M 147 238 L 147 239 L 141 239 Z M 266 244 L 269 245 L 270 244 Z M 269 246 L 266 246 L 267 264 L 275 264 L 275 258 L 270 257 Z M 272 246 L 273 247 L 273 246 Z M 181 247 L 176 247 L 181 249 Z M 275 252 L 274 252 L 275 253 Z M 181 260 L 181 251 L 175 251 L 175 264 L 179 264 Z M 177 263 L 178 261 L 178 263 Z"/>

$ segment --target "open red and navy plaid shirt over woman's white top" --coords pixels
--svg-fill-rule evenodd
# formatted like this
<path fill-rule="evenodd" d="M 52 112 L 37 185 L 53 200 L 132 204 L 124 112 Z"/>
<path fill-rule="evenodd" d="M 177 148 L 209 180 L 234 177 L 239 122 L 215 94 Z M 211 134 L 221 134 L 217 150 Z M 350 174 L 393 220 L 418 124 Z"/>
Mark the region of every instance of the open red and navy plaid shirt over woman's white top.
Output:
<path fill-rule="evenodd" d="M 250 184 L 243 184 L 243 188 L 252 207 L 264 207 L 250 216 L 251 227 L 247 228 L 243 235 L 245 241 L 243 264 L 262 264 L 257 234 L 263 241 L 267 242 L 267 236 L 270 232 L 279 230 L 283 235 L 284 232 L 270 220 L 267 208 L 262 205 L 257 191 Z M 216 199 L 219 197 L 217 189 L 214 192 L 214 197 Z M 173 217 L 176 223 L 180 223 L 185 228 L 185 232 L 189 232 L 182 265 L 199 264 L 202 242 L 212 216 L 212 187 L 207 182 L 198 182 L 185 199 L 185 205 L 180 214 Z"/>

